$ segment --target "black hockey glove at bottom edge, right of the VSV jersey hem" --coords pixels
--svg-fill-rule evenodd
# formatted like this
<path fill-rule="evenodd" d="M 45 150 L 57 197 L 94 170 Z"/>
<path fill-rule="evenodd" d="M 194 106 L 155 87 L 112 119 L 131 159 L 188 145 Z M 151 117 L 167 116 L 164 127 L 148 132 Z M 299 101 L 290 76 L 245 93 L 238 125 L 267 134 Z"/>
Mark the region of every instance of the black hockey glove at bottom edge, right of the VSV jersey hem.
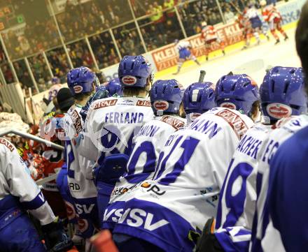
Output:
<path fill-rule="evenodd" d="M 195 252 L 224 252 L 214 235 L 215 220 L 210 218 L 204 226 L 204 230 L 197 242 Z"/>

